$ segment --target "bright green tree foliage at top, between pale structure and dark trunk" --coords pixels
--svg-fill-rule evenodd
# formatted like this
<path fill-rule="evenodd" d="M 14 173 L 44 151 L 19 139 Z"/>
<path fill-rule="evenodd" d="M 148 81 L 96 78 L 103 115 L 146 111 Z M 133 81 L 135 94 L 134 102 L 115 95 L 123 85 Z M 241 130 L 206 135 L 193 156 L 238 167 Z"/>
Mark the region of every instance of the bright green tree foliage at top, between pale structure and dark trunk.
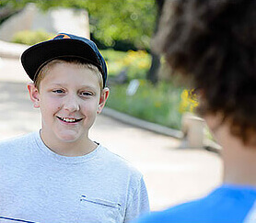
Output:
<path fill-rule="evenodd" d="M 88 5 L 91 30 L 108 46 L 115 40 L 133 41 L 138 49 L 148 49 L 157 14 L 153 0 L 96 0 Z M 101 5 L 101 6 L 100 6 Z"/>

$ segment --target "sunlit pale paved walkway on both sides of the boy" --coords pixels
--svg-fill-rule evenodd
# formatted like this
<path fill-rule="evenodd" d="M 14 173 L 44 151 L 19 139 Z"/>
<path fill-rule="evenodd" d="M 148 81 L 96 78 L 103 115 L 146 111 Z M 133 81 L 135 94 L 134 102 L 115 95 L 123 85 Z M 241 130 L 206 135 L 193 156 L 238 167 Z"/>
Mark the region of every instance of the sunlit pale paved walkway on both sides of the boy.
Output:
<path fill-rule="evenodd" d="M 1 59 L 1 58 L 0 58 Z M 17 59 L 0 60 L 0 139 L 40 128 L 39 111 L 29 101 L 29 82 Z M 145 175 L 152 209 L 158 210 L 208 193 L 221 181 L 217 154 L 178 149 L 180 141 L 100 115 L 90 132 Z"/>

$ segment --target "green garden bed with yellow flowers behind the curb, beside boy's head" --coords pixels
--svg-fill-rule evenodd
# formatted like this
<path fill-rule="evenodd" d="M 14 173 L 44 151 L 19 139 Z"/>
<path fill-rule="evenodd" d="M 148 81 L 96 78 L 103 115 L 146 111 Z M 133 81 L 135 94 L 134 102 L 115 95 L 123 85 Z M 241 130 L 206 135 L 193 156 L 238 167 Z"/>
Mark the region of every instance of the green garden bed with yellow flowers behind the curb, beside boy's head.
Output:
<path fill-rule="evenodd" d="M 145 72 L 150 65 L 150 55 L 145 51 L 101 50 L 108 64 L 110 77 L 127 68 L 128 79 L 139 79 L 135 95 L 126 95 L 128 84 L 112 84 L 107 106 L 153 123 L 180 129 L 183 113 L 193 112 L 197 102 L 188 90 L 172 83 L 154 86 L 145 81 Z M 175 81 L 173 81 L 175 83 Z"/>

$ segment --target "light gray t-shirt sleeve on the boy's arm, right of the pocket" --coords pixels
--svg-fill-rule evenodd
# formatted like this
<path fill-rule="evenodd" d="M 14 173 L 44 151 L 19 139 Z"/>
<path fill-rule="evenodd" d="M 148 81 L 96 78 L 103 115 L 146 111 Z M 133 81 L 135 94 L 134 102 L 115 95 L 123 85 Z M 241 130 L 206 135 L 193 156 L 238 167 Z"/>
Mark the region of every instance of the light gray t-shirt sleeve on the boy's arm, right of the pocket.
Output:
<path fill-rule="evenodd" d="M 131 220 L 149 213 L 149 201 L 145 187 L 143 177 L 140 179 L 140 183 L 137 189 L 134 191 L 134 195 L 130 199 L 125 211 L 124 223 L 131 222 Z"/>

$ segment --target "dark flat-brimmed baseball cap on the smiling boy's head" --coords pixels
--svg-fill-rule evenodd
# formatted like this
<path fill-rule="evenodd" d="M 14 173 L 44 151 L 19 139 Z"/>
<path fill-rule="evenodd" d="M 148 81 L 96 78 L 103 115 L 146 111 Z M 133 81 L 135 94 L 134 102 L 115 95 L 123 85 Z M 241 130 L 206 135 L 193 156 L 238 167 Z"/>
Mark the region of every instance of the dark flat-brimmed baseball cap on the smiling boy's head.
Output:
<path fill-rule="evenodd" d="M 41 68 L 49 61 L 62 58 L 76 58 L 99 68 L 103 87 L 106 86 L 107 66 L 96 44 L 86 38 L 60 33 L 54 38 L 29 47 L 21 55 L 21 63 L 29 78 L 35 81 Z"/>

